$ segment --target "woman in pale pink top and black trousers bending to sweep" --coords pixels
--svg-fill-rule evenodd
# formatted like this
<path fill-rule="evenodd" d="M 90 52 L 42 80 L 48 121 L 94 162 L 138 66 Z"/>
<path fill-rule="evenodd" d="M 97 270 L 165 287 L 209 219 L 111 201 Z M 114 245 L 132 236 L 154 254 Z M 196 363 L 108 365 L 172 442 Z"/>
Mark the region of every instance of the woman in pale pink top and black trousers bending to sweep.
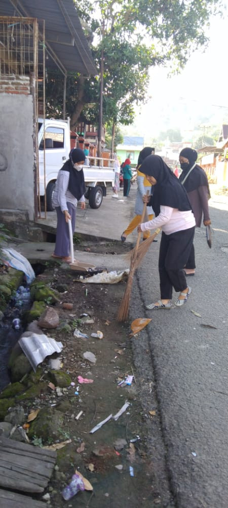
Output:
<path fill-rule="evenodd" d="M 187 286 L 183 266 L 193 245 L 196 221 L 185 189 L 159 155 L 149 155 L 140 171 L 153 185 L 153 196 L 143 197 L 156 218 L 138 226 L 138 231 L 162 228 L 159 252 L 161 299 L 146 305 L 147 309 L 171 307 L 172 290 L 180 292 L 177 307 L 186 303 L 191 288 Z"/>

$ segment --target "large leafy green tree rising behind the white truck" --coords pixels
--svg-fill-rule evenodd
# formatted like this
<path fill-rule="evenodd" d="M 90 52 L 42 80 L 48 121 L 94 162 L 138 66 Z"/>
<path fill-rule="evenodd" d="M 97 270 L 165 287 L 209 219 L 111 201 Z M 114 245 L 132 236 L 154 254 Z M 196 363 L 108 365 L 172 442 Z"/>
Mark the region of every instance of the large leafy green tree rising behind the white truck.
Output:
<path fill-rule="evenodd" d="M 192 51 L 207 42 L 205 26 L 220 0 L 75 0 L 98 74 L 104 54 L 103 122 L 130 124 L 134 104 L 144 102 L 151 66 L 169 63 L 178 71 Z M 101 20 L 104 33 L 101 36 Z M 48 113 L 61 115 L 62 77 L 47 79 Z M 67 114 L 71 124 L 98 122 L 99 76 L 68 78 Z M 89 107 L 87 105 L 90 105 Z M 91 106 L 94 104 L 94 106 Z"/>

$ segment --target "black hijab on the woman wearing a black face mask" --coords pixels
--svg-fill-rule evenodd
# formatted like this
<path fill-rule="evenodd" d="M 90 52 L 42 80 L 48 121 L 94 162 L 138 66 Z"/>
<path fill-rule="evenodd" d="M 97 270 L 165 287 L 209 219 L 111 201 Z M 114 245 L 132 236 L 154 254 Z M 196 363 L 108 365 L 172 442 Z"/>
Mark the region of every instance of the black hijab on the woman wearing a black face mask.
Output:
<path fill-rule="evenodd" d="M 197 161 L 198 153 L 193 148 L 183 148 L 183 150 L 181 150 L 179 156 L 185 157 L 189 161 L 188 168 L 184 169 L 179 177 L 179 180 L 181 182 L 185 178 L 189 169 L 191 169 L 192 166 L 194 165 L 194 163 Z M 183 183 L 183 186 L 186 189 L 186 192 L 188 193 L 188 192 L 192 192 L 192 190 L 198 189 L 198 187 L 201 187 L 202 185 L 207 187 L 208 199 L 209 199 L 210 198 L 210 189 L 209 189 L 207 175 L 206 175 L 205 171 L 197 164 L 195 166 L 195 168 L 191 171 L 191 173 L 189 173 L 188 177 L 186 178 L 185 182 Z"/>

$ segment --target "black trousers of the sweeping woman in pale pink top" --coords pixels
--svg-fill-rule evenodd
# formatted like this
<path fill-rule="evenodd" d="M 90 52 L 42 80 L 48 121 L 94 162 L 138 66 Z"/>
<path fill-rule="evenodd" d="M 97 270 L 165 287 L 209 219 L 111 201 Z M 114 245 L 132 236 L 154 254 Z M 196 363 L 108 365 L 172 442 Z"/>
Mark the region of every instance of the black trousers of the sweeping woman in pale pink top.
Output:
<path fill-rule="evenodd" d="M 195 227 L 171 235 L 162 233 L 159 252 L 160 291 L 162 299 L 171 299 L 176 292 L 187 288 L 183 267 L 189 258 Z"/>

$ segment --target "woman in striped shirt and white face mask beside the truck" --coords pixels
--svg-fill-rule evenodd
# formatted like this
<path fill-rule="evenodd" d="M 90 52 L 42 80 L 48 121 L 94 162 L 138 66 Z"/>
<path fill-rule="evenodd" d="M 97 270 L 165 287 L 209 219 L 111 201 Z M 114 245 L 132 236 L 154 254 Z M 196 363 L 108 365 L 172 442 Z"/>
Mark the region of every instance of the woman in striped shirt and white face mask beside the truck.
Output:
<path fill-rule="evenodd" d="M 72 231 L 74 231 L 78 201 L 81 202 L 82 209 L 86 207 L 84 196 L 86 186 L 83 173 L 85 158 L 86 155 L 81 148 L 73 148 L 70 151 L 68 161 L 58 172 L 53 193 L 53 205 L 57 213 L 57 230 L 52 257 L 62 259 L 66 263 L 71 262 L 68 220 L 71 219 Z"/>

